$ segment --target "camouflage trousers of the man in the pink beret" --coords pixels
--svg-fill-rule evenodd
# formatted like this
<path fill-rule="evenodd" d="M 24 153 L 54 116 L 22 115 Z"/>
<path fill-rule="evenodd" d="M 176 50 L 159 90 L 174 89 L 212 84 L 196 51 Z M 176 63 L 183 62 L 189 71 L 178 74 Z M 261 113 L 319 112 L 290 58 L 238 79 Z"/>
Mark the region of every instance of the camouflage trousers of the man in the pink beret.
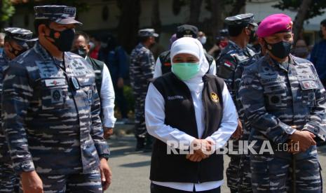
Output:
<path fill-rule="evenodd" d="M 292 168 L 292 160 L 295 169 Z M 275 152 L 274 155 L 250 155 L 253 192 L 322 192 L 317 148 L 292 155 Z M 292 179 L 295 172 L 295 187 Z M 292 190 L 292 187 L 295 190 Z"/>

